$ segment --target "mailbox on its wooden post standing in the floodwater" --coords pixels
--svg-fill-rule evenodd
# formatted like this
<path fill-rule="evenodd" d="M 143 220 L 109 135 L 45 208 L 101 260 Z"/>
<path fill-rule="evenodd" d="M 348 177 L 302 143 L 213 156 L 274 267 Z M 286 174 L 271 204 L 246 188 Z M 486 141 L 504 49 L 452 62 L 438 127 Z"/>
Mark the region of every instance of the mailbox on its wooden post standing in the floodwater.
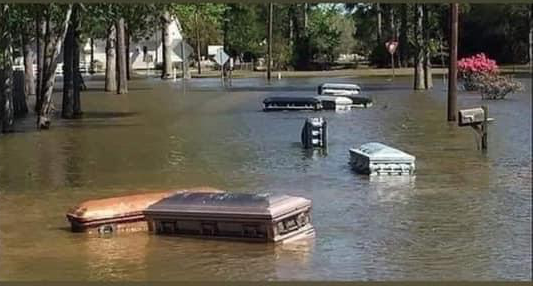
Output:
<path fill-rule="evenodd" d="M 489 107 L 482 106 L 478 108 L 459 110 L 459 126 L 471 126 L 476 135 L 481 137 L 481 150 L 488 148 L 488 123 L 494 119 L 489 118 Z"/>

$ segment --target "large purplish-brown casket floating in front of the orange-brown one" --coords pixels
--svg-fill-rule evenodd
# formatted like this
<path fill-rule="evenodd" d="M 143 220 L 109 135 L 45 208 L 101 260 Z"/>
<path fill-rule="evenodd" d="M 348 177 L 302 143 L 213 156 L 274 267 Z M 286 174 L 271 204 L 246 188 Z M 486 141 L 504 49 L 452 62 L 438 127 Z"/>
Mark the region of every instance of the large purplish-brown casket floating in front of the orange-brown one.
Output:
<path fill-rule="evenodd" d="M 148 207 L 151 232 L 256 242 L 314 236 L 311 201 L 287 195 L 183 193 Z"/>

